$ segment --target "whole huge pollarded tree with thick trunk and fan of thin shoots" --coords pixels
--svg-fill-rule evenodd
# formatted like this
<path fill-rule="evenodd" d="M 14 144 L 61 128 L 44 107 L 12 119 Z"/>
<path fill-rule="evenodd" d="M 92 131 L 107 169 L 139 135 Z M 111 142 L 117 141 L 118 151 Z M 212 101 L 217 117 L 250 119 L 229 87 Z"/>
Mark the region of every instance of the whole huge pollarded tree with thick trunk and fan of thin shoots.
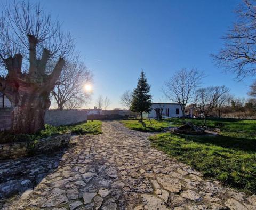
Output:
<path fill-rule="evenodd" d="M 44 128 L 49 95 L 73 52 L 73 39 L 39 4 L 7 4 L 0 22 L 0 64 L 6 76 L 0 77 L 0 91 L 13 107 L 11 131 L 34 133 Z M 57 63 L 46 72 L 50 60 Z"/>

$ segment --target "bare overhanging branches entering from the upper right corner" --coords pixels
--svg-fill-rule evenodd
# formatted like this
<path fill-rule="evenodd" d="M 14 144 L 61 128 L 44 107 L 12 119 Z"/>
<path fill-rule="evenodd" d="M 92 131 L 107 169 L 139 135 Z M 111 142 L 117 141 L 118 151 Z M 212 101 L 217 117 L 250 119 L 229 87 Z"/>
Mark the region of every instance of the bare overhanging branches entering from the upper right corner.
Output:
<path fill-rule="evenodd" d="M 237 21 L 223 37 L 224 46 L 213 57 L 218 65 L 235 72 L 237 78 L 243 78 L 256 72 L 255 1 L 243 0 L 235 12 Z"/>

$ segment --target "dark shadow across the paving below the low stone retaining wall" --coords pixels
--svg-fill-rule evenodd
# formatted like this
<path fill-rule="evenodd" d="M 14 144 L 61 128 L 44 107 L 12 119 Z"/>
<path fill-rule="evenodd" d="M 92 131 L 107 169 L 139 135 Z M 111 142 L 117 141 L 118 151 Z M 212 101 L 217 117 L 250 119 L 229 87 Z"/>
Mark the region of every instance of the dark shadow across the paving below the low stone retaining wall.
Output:
<path fill-rule="evenodd" d="M 44 177 L 54 173 L 67 148 L 58 148 L 58 151 L 52 150 L 33 157 L 1 160 L 0 206 L 5 199 L 36 187 Z"/>

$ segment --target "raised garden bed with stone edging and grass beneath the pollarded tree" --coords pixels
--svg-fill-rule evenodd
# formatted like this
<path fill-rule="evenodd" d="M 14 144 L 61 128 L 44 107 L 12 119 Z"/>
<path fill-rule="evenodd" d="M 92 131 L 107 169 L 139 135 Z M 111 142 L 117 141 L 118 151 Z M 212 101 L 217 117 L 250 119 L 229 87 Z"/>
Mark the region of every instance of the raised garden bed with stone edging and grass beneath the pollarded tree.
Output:
<path fill-rule="evenodd" d="M 0 132 L 0 159 L 18 158 L 66 146 L 71 134 L 100 134 L 102 122 L 88 121 L 74 125 L 45 125 L 45 130 L 34 134 Z"/>

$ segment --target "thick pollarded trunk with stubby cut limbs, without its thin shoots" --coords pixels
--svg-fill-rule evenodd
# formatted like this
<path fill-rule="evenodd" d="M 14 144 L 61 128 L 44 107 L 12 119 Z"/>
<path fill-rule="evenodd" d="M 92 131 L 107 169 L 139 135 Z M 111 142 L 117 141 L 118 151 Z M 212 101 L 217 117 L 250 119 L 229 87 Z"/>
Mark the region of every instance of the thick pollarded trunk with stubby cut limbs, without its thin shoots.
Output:
<path fill-rule="evenodd" d="M 6 78 L 0 77 L 0 91 L 12 103 L 13 133 L 35 133 L 44 129 L 44 116 L 50 107 L 50 92 L 60 76 L 65 60 L 59 59 L 50 75 L 45 74 L 49 50 L 44 49 L 41 59 L 36 58 L 37 41 L 29 36 L 29 73 L 21 72 L 22 55 L 15 54 L 4 60 L 8 70 Z"/>

